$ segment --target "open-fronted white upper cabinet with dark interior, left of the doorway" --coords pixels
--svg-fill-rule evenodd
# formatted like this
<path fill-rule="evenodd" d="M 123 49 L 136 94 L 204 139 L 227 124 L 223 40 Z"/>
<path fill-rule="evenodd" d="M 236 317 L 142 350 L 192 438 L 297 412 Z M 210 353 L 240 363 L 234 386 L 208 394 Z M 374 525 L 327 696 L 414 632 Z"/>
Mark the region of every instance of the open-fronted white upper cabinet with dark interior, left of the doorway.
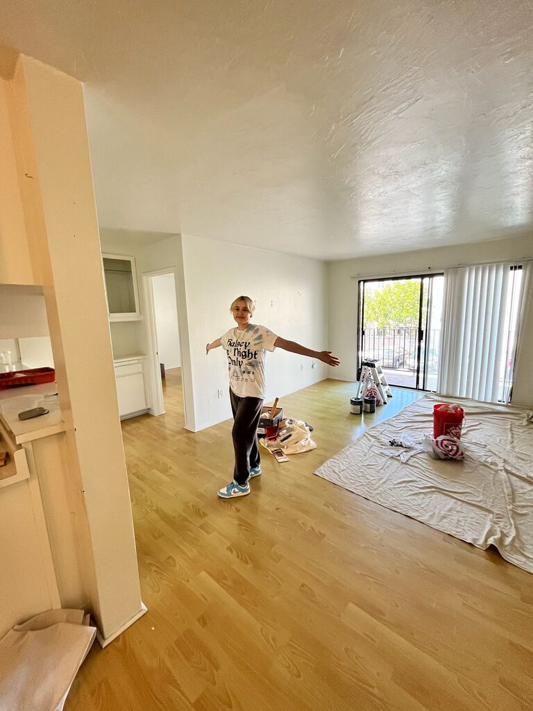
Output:
<path fill-rule="evenodd" d="M 134 257 L 102 255 L 109 321 L 141 318 Z"/>

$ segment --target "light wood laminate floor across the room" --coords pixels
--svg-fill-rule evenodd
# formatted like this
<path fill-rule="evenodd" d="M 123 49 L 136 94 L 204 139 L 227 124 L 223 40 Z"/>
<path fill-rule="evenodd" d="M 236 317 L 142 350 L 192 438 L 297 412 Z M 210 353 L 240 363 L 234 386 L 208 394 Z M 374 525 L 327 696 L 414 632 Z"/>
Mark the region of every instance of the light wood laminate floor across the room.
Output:
<path fill-rule="evenodd" d="M 149 612 L 97 645 L 65 711 L 525 711 L 533 577 L 313 475 L 362 427 L 355 386 L 289 397 L 318 449 L 263 456 L 252 494 L 222 501 L 231 423 L 183 429 L 179 371 L 162 417 L 123 423 Z"/>

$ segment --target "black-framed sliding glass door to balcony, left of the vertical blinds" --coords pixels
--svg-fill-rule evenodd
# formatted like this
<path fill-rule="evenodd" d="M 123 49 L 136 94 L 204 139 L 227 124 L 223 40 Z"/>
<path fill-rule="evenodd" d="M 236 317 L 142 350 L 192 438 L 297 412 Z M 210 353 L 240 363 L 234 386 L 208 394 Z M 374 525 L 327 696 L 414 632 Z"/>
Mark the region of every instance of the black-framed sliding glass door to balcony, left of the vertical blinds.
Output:
<path fill-rule="evenodd" d="M 436 390 L 443 288 L 443 274 L 360 280 L 358 378 L 379 358 L 389 385 Z"/>

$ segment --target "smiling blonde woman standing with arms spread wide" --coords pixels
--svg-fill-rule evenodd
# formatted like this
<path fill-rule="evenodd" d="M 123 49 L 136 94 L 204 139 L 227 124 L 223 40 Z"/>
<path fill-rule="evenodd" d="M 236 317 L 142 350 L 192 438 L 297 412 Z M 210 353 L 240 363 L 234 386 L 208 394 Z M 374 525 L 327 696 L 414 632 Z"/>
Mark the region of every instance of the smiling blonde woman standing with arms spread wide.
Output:
<path fill-rule="evenodd" d="M 284 351 L 316 358 L 326 365 L 339 364 L 331 351 L 313 351 L 276 336 L 265 326 L 251 324 L 254 302 L 249 296 L 237 296 L 230 312 L 237 327 L 205 347 L 205 353 L 219 346 L 225 348 L 230 373 L 230 401 L 235 420 L 232 429 L 235 469 L 232 481 L 218 492 L 222 498 L 247 496 L 250 493 L 249 479 L 261 474 L 257 426 L 264 402 L 265 352 L 283 348 Z"/>

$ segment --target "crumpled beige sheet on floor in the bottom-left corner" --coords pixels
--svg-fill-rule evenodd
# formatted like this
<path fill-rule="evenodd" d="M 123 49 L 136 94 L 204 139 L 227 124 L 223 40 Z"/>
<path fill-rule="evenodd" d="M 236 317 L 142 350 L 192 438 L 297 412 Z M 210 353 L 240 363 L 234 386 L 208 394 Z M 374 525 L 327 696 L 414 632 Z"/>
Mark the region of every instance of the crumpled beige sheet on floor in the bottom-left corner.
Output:
<path fill-rule="evenodd" d="M 0 711 L 62 708 L 95 636 L 83 610 L 49 610 L 16 625 L 0 640 Z"/>

